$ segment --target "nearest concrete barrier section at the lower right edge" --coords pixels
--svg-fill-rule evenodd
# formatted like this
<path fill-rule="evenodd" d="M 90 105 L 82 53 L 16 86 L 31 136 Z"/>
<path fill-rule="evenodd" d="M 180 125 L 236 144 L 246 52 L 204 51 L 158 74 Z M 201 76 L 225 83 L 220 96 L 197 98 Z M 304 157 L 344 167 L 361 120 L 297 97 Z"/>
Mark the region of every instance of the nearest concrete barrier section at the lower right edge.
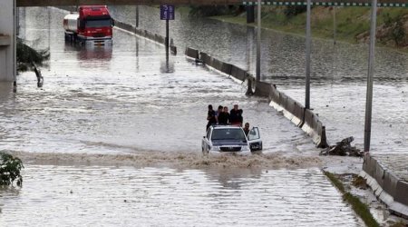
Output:
<path fill-rule="evenodd" d="M 364 156 L 363 171 L 360 175 L 392 212 L 408 217 L 408 183 L 368 153 Z"/>

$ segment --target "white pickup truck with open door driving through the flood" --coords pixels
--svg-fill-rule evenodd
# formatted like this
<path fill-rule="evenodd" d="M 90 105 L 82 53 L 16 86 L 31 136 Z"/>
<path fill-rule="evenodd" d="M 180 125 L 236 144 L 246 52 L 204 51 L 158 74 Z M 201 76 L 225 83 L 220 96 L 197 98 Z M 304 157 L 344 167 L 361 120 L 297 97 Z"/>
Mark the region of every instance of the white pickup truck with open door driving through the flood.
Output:
<path fill-rule="evenodd" d="M 203 154 L 249 154 L 262 150 L 262 141 L 257 127 L 253 127 L 247 137 L 240 126 L 212 125 L 202 138 L 201 150 Z"/>

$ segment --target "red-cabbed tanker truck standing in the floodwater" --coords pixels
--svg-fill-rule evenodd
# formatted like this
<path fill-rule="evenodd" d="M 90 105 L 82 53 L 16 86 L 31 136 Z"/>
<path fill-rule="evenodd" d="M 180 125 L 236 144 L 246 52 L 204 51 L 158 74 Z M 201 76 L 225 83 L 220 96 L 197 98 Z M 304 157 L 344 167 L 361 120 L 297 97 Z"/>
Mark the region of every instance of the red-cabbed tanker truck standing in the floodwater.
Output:
<path fill-rule="evenodd" d="M 113 20 L 106 5 L 82 5 L 63 17 L 65 39 L 80 44 L 112 44 Z"/>

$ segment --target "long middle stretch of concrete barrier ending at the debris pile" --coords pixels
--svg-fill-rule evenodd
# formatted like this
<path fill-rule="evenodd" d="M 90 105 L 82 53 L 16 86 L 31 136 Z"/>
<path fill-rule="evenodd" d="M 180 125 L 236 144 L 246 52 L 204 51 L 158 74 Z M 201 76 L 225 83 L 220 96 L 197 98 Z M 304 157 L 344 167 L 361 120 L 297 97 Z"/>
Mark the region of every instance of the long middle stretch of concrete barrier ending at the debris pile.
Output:
<path fill-rule="evenodd" d="M 246 70 L 239 68 L 237 65 L 225 63 L 207 53 L 200 52 L 199 50 L 188 47 L 185 54 L 190 58 L 199 58 L 203 64 L 224 74 L 231 75 L 239 81 L 247 81 L 248 94 L 268 97 L 271 105 L 278 111 L 283 111 L 285 116 L 292 123 L 295 123 L 296 126 L 302 128 L 303 131 L 309 134 L 313 138 L 317 147 L 327 147 L 325 126 L 320 122 L 317 114 L 314 114 L 310 110 L 306 110 L 303 105 L 299 104 L 286 94 L 279 92 L 273 84 L 257 82 L 252 74 L 249 74 Z"/>

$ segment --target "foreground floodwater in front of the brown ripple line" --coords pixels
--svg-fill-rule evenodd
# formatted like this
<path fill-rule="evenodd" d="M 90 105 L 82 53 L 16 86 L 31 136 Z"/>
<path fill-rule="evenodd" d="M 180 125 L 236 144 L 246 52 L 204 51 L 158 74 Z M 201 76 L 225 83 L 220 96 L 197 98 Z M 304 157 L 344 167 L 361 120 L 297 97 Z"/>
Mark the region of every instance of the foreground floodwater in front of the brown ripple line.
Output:
<path fill-rule="evenodd" d="M 357 226 L 318 169 L 27 165 L 0 196 L 6 226 Z"/>

